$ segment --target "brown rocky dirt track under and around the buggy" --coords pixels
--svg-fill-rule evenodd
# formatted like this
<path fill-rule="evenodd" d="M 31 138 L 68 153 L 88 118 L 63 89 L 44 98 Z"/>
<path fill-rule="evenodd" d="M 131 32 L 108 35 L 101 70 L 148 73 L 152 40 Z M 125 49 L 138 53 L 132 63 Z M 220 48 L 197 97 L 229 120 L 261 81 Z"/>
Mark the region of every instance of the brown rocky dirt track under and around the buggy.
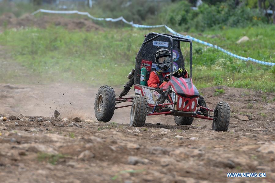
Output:
<path fill-rule="evenodd" d="M 0 122 L 0 181 L 274 182 L 275 94 L 223 88 L 220 96 L 213 96 L 214 87 L 201 92 L 211 108 L 221 100 L 230 104 L 228 132 L 212 131 L 201 119 L 176 126 L 172 116 L 148 117 L 143 128 L 132 128 L 129 108 L 115 111 L 116 123 L 100 123 L 93 115 L 97 89 L 1 84 L 1 116 L 22 120 Z M 52 116 L 55 109 L 61 118 L 26 116 Z M 241 121 L 239 114 L 254 118 Z M 72 123 L 75 115 L 82 121 Z M 267 178 L 227 178 L 226 172 L 266 172 Z"/>

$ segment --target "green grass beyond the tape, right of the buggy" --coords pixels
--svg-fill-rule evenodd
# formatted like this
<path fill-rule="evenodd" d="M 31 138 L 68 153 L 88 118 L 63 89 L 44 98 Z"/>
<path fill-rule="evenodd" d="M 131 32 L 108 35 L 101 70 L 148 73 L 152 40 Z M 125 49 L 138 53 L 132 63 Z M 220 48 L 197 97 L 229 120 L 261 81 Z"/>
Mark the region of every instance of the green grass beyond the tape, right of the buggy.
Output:
<path fill-rule="evenodd" d="M 275 60 L 275 25 L 225 28 L 223 31 L 205 31 L 203 34 L 191 35 L 243 57 L 267 62 L 274 62 Z M 249 41 L 237 44 L 236 42 L 243 36 L 247 36 Z M 195 47 L 194 49 L 198 48 Z"/>

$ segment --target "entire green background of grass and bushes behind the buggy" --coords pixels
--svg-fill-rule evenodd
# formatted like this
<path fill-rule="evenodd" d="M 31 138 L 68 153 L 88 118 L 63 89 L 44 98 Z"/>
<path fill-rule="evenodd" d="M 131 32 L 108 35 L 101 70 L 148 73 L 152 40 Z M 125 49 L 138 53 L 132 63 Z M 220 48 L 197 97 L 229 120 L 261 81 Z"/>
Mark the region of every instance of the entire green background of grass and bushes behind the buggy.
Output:
<path fill-rule="evenodd" d="M 95 17 L 123 16 L 137 24 L 166 24 L 183 35 L 216 44 L 240 56 L 275 62 L 273 1 L 203 0 L 198 5 L 195 0 L 93 0 L 92 8 L 88 1 L 62 1 L 58 5 L 56 1 L 0 3 L 1 16 L 13 13 L 21 17 L 40 8 L 77 9 Z M 273 10 L 273 14 L 267 13 L 268 9 Z M 87 18 L 76 14 L 45 13 L 38 13 L 35 17 L 45 15 Z M 8 50 L 12 60 L 43 78 L 44 83 L 58 81 L 122 86 L 127 81 L 126 75 L 134 68 L 143 35 L 151 31 L 168 33 L 165 28 L 138 29 L 123 22 L 88 20 L 103 27 L 103 31 L 69 31 L 55 25 L 46 29 L 9 29 L 7 22 L 1 22 L 1 52 Z M 236 43 L 243 36 L 249 40 Z M 182 45 L 182 51 L 188 65 L 188 45 Z M 193 44 L 193 59 L 193 80 L 198 88 L 225 85 L 275 92 L 275 66 L 245 62 L 196 42 Z M 32 83 L 3 67 L 0 76 L 2 83 Z"/>

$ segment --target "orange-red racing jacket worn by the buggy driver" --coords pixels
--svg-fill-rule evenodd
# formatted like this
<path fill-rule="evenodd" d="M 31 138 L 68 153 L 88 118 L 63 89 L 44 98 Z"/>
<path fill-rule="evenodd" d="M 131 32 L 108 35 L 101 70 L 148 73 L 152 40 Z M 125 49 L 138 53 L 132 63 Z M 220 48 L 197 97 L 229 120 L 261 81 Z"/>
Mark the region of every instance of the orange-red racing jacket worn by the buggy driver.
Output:
<path fill-rule="evenodd" d="M 167 82 L 161 82 L 161 80 L 164 79 L 164 76 L 166 74 L 169 74 L 170 72 L 162 73 L 158 71 L 151 72 L 149 79 L 147 81 L 147 84 L 149 87 L 152 88 L 162 88 L 164 85 L 166 85 Z M 188 72 L 185 70 L 183 73 L 183 78 L 188 78 Z"/>

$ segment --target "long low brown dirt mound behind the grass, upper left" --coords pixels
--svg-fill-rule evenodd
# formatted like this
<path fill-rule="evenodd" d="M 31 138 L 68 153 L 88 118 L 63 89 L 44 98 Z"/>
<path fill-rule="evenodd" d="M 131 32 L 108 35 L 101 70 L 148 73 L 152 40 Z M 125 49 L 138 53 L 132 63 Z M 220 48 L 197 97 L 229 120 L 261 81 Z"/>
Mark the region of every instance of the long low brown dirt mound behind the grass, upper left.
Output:
<path fill-rule="evenodd" d="M 42 16 L 36 18 L 31 14 L 24 14 L 16 18 L 13 13 L 4 13 L 0 17 L 1 28 L 39 27 L 46 28 L 49 25 L 62 26 L 68 30 L 99 30 L 103 28 L 88 19 L 67 19 L 62 16 Z"/>

